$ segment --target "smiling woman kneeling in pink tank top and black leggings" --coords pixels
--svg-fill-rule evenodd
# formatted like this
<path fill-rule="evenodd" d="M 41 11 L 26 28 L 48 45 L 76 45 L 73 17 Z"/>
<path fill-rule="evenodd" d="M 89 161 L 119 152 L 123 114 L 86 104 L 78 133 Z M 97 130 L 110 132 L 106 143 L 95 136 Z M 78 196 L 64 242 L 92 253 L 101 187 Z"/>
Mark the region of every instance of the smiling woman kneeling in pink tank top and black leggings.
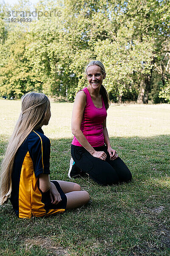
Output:
<path fill-rule="evenodd" d="M 74 139 L 68 177 L 87 173 L 101 185 L 130 181 L 132 175 L 111 147 L 106 128 L 110 102 L 102 85 L 105 67 L 101 61 L 91 61 L 85 73 L 88 86 L 77 93 L 72 113 Z"/>

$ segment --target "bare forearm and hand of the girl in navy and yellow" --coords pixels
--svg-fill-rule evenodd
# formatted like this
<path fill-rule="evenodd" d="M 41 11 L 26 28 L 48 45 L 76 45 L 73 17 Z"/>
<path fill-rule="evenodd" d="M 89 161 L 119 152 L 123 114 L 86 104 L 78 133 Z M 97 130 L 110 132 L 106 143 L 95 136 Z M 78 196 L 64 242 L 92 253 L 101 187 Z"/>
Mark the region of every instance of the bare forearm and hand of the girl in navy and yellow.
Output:
<path fill-rule="evenodd" d="M 39 181 L 40 189 L 43 193 L 50 190 L 51 204 L 58 204 L 61 201 L 61 196 L 54 183 L 50 182 L 50 176 L 42 173 L 39 175 Z"/>

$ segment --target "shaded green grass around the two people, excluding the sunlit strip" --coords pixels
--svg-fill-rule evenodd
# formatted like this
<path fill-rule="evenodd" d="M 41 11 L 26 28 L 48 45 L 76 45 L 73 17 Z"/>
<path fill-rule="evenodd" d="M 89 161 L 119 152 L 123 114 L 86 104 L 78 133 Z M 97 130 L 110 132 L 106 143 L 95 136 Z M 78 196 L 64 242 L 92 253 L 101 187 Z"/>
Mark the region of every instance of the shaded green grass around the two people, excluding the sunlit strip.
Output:
<path fill-rule="evenodd" d="M 110 139 L 132 172 L 132 182 L 105 187 L 88 178 L 71 180 L 88 190 L 91 203 L 50 218 L 20 220 L 9 203 L 4 205 L 0 255 L 34 255 L 23 243 L 37 238 L 46 239 L 40 248 L 50 253 L 45 243 L 51 241 L 51 247 L 64 248 L 63 255 L 170 255 L 170 135 Z M 70 146 L 70 138 L 51 140 L 51 179 L 70 181 Z"/>

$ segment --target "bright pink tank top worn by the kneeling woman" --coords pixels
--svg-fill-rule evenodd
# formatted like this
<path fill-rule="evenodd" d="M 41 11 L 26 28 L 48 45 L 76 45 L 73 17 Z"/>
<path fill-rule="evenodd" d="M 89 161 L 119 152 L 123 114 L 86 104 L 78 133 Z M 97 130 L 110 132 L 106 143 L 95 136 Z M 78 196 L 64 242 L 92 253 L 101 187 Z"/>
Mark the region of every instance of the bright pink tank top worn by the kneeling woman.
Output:
<path fill-rule="evenodd" d="M 96 108 L 91 99 L 88 88 L 85 87 L 82 90 L 85 92 L 87 102 L 82 116 L 80 129 L 92 147 L 99 147 L 105 144 L 102 125 L 107 116 L 105 103 L 102 98 L 102 108 Z M 71 144 L 82 147 L 75 136 Z"/>

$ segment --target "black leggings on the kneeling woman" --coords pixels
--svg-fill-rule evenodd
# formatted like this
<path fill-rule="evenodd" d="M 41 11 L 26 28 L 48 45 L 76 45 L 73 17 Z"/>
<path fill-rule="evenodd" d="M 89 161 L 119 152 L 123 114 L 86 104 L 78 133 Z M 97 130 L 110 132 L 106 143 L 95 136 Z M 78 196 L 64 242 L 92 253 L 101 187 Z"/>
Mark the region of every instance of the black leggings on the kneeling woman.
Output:
<path fill-rule="evenodd" d="M 71 155 L 75 164 L 87 173 L 94 181 L 101 185 L 111 185 L 119 182 L 127 182 L 132 179 L 130 170 L 120 157 L 110 160 L 107 146 L 94 147 L 96 151 L 104 151 L 106 160 L 93 157 L 84 147 L 71 144 Z"/>

